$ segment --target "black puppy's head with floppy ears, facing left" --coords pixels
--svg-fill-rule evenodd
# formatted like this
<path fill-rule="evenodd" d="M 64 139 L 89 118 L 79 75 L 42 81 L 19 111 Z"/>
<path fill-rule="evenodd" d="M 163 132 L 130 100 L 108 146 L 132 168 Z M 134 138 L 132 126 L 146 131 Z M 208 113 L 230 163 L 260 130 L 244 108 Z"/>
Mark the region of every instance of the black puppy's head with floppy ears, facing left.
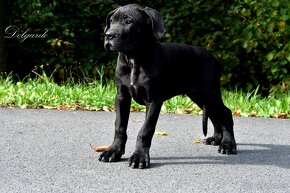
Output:
<path fill-rule="evenodd" d="M 161 39 L 165 33 L 159 12 L 136 4 L 113 10 L 108 14 L 106 24 L 104 46 L 108 51 L 130 53 L 148 41 Z"/>

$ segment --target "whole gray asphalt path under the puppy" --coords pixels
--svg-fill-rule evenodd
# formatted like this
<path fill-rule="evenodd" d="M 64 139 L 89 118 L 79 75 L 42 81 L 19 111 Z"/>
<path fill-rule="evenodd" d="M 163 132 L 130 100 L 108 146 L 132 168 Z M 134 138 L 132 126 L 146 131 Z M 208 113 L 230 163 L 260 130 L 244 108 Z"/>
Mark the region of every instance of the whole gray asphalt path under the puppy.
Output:
<path fill-rule="evenodd" d="M 114 113 L 0 109 L 0 192 L 290 192 L 290 120 L 235 118 L 237 155 L 202 139 L 201 117 L 160 115 L 151 168 L 131 169 L 144 113 L 132 113 L 121 162 L 93 146 L 112 142 Z M 210 134 L 212 126 L 209 124 Z"/>

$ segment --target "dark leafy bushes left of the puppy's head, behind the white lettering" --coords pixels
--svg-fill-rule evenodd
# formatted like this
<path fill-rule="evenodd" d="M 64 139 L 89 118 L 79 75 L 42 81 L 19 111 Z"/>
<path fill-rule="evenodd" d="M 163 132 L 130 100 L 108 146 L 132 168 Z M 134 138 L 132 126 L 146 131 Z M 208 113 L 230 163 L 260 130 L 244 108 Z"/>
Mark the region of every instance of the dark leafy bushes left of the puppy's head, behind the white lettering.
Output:
<path fill-rule="evenodd" d="M 103 49 L 104 21 L 110 5 L 110 1 L 100 0 L 10 2 L 11 25 L 23 31 L 49 30 L 45 40 L 9 39 L 12 70 L 26 76 L 32 69 L 41 71 L 43 67 L 48 74 L 54 73 L 57 81 L 96 78 L 97 69 L 112 63 L 111 55 Z M 13 56 L 15 49 L 20 53 L 17 57 Z M 112 76 L 112 70 L 106 72 Z"/>

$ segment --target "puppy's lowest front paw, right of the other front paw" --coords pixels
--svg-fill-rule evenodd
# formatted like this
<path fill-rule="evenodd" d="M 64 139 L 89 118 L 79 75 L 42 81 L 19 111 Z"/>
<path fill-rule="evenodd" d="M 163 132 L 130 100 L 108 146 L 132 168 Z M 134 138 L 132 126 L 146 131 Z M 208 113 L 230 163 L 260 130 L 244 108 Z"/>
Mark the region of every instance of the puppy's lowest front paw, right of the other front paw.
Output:
<path fill-rule="evenodd" d="M 149 149 L 143 151 L 135 151 L 128 160 L 128 166 L 132 168 L 149 168 L 150 167 L 150 156 Z"/>

